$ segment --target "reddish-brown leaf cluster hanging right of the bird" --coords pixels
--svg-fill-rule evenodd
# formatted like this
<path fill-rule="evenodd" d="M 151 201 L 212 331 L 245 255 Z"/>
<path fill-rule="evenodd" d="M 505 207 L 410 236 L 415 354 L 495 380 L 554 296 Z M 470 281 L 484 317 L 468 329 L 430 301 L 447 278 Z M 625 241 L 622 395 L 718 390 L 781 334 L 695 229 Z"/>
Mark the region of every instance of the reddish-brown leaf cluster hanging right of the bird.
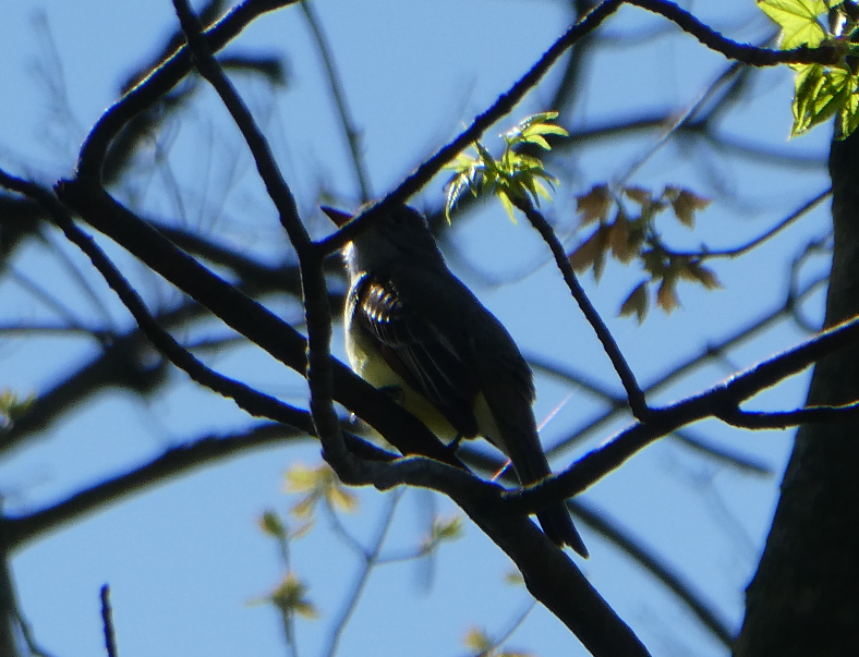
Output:
<path fill-rule="evenodd" d="M 637 206 L 631 212 L 621 197 Z M 595 230 L 570 255 L 577 271 L 593 269 L 596 280 L 610 255 L 622 264 L 641 263 L 648 278 L 640 282 L 620 306 L 620 315 L 636 315 L 642 323 L 650 307 L 650 288 L 656 288 L 655 303 L 666 313 L 679 305 L 677 283 L 688 280 L 707 290 L 721 288 L 715 272 L 702 264 L 704 254 L 678 254 L 668 248 L 656 228 L 656 217 L 668 208 L 686 228 L 694 228 L 695 212 L 710 205 L 710 199 L 689 190 L 668 185 L 656 194 L 643 187 L 629 186 L 616 197 L 608 185 L 595 185 L 576 197 L 581 226 L 597 223 Z M 612 216 L 612 210 L 614 216 Z"/>

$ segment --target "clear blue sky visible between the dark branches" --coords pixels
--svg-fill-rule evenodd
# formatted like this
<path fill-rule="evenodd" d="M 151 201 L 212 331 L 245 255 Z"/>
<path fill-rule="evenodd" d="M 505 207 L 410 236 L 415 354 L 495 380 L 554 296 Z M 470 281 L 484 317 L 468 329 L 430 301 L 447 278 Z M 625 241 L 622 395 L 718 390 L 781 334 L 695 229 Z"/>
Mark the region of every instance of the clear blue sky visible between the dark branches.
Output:
<path fill-rule="evenodd" d="M 118 96 L 119 85 L 161 46 L 176 21 L 171 3 L 20 0 L 4 8 L 0 25 L 0 163 L 16 174 L 50 183 L 73 171 L 86 131 Z M 738 40 L 757 41 L 771 25 L 752 2 L 692 2 L 704 21 Z M 352 114 L 361 129 L 373 191 L 384 193 L 463 123 L 485 109 L 523 74 L 567 27 L 562 2 L 549 0 L 396 2 L 317 1 L 332 45 Z M 724 70 L 725 60 L 642 10 L 625 8 L 607 24 L 614 37 L 590 63 L 573 111 L 565 119 L 581 130 L 645 111 L 681 112 Z M 48 37 L 48 35 L 50 35 Z M 652 38 L 651 38 L 652 37 Z M 658 38 L 657 38 L 658 37 Z M 53 53 L 51 51 L 53 49 Z M 315 207 L 317 183 L 340 205 L 354 207 L 358 192 L 313 42 L 297 8 L 264 16 L 231 46 L 234 52 L 274 54 L 287 63 L 288 83 L 271 96 L 249 78 L 237 84 L 269 137 L 299 205 L 318 234 L 330 230 Z M 521 118 L 552 109 L 547 102 L 556 72 L 517 107 L 484 143 Z M 63 93 L 57 93 L 60 89 Z M 748 99 L 734 110 L 724 134 L 747 145 L 765 145 L 787 158 L 816 158 L 818 166 L 752 163 L 729 153 L 706 153 L 682 142 L 655 150 L 656 134 L 600 142 L 565 155 L 562 177 L 549 215 L 568 245 L 574 233 L 574 195 L 591 185 L 621 179 L 662 188 L 687 185 L 714 203 L 693 233 L 666 221 L 675 244 L 713 248 L 741 244 L 827 185 L 827 129 L 787 142 L 790 78 L 773 70 L 754 78 Z M 57 106 L 65 97 L 66 104 Z M 651 155 L 652 154 L 652 155 Z M 164 156 L 164 157 L 162 157 Z M 160 159 L 159 159 L 160 158 Z M 254 257 L 273 260 L 288 248 L 252 161 L 225 110 L 205 90 L 182 122 L 171 123 L 141 154 L 137 177 L 119 195 L 137 209 L 193 227 Z M 415 199 L 438 206 L 444 178 Z M 176 192 L 171 192 L 174 184 Z M 810 240 L 826 233 L 825 206 L 753 254 L 714 268 L 724 290 L 705 293 L 687 284 L 682 307 L 665 316 L 654 309 L 645 324 L 616 318 L 624 296 L 641 279 L 636 268 L 608 266 L 603 280 L 583 281 L 634 372 L 649 382 L 707 343 L 746 326 L 782 303 L 785 263 Z M 57 244 L 61 239 L 51 236 Z M 98 239 L 150 307 L 174 302 L 177 293 Z M 71 248 L 70 258 L 104 296 L 110 323 L 130 327 L 128 313 Z M 620 390 L 592 330 L 569 299 L 548 254 L 523 223 L 510 223 L 497 204 L 455 224 L 445 251 L 451 266 L 508 327 L 528 354 L 574 366 Z M 86 326 L 104 321 L 56 255 L 29 244 L 15 272 L 52 291 Z M 813 260 L 806 276 L 825 270 Z M 482 276 L 477 276 L 480 272 Z M 486 284 L 486 281 L 506 284 Z M 820 317 L 821 296 L 808 314 Z M 286 318 L 288 304 L 271 302 Z M 0 324 L 57 321 L 56 311 L 34 299 L 21 279 L 0 280 Z M 213 336 L 225 331 L 213 323 Z M 765 336 L 702 367 L 662 393 L 665 402 L 715 384 L 733 372 L 796 343 L 802 333 L 783 323 Z M 335 352 L 342 354 L 339 333 Z M 86 338 L 38 340 L 0 338 L 0 387 L 21 392 L 48 388 L 64 367 L 96 353 Z M 291 403 L 303 403 L 302 381 L 251 348 L 207 355 L 207 363 Z M 166 391 L 147 400 L 105 392 L 75 410 L 38 440 L 0 466 L 5 509 L 19 513 L 152 459 L 189 437 L 229 433 L 249 424 L 230 402 L 214 398 L 173 373 Z M 755 409 L 790 409 L 801 403 L 807 376 L 796 377 L 754 401 Z M 602 407 L 579 390 L 540 377 L 537 418 L 561 406 L 543 431 L 548 447 Z M 626 421 L 616 423 L 614 429 Z M 702 459 L 673 440 L 637 455 L 583 498 L 616 519 L 663 555 L 735 626 L 741 619 L 742 587 L 757 561 L 790 447 L 790 433 L 749 434 L 709 422 L 694 427 L 706 440 L 754 457 L 769 478 L 737 473 Z M 558 454 L 569 464 L 612 435 L 604 429 L 576 450 Z M 488 448 L 487 448 L 488 449 Z M 276 546 L 256 527 L 266 509 L 286 511 L 282 477 L 290 463 L 318 461 L 305 441 L 218 463 L 182 479 L 130 498 L 26 546 L 13 559 L 22 609 L 36 637 L 62 657 L 101 650 L 98 589 L 113 589 L 120 650 L 136 655 L 282 654 L 275 613 L 250 601 L 282 575 Z M 359 491 L 361 511 L 346 519 L 362 540 L 374 535 L 388 503 Z M 431 501 L 432 500 L 432 501 Z M 414 547 L 430 509 L 456 512 L 447 500 L 409 491 L 395 519 L 390 553 Z M 583 571 L 644 643 L 658 655 L 724 655 L 709 633 L 664 587 L 607 542 L 583 531 L 592 558 Z M 324 519 L 293 546 L 294 569 L 308 583 L 320 610 L 299 622 L 302 655 L 326 645 L 332 619 L 358 562 Z M 404 562 L 374 573 L 341 644 L 341 655 L 465 654 L 462 637 L 472 625 L 500 635 L 529 605 L 522 588 L 504 583 L 511 564 L 473 526 L 441 548 L 432 563 Z M 566 629 L 542 608 L 532 611 L 510 645 L 540 655 L 585 654 Z"/>

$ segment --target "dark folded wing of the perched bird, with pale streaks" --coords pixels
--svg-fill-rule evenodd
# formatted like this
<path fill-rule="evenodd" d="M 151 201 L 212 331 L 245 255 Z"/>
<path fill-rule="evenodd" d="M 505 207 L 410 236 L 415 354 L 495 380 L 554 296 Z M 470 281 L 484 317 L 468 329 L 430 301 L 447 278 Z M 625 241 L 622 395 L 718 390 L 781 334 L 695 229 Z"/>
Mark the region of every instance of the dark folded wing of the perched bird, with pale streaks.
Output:
<path fill-rule="evenodd" d="M 463 436 L 476 435 L 472 403 L 477 393 L 467 358 L 438 323 L 409 302 L 396 275 L 366 273 L 352 290 L 356 328 L 374 339 L 388 366 L 428 399 Z M 432 292 L 431 292 L 432 293 Z"/>

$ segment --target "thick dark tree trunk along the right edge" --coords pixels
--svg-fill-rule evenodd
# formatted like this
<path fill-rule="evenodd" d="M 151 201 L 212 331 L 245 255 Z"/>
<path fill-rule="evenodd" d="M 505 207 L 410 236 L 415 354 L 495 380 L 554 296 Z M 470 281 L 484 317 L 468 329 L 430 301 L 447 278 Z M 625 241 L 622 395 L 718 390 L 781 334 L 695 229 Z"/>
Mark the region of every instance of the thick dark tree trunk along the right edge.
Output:
<path fill-rule="evenodd" d="M 833 141 L 825 325 L 859 314 L 859 133 Z M 859 344 L 818 363 L 809 404 L 859 399 Z M 859 655 L 859 417 L 799 429 L 736 657 Z"/>

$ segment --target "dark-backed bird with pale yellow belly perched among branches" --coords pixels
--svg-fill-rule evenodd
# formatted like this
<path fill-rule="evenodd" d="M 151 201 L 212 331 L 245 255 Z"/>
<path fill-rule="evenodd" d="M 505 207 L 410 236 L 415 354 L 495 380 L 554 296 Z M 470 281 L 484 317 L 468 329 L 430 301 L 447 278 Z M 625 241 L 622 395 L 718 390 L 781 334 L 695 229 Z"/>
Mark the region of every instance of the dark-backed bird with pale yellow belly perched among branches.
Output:
<path fill-rule="evenodd" d="M 338 226 L 351 219 L 323 210 Z M 391 390 L 443 441 L 486 438 L 523 485 L 552 474 L 531 409 L 531 369 L 501 323 L 447 268 L 426 219 L 403 206 L 363 230 L 344 256 L 352 369 Z M 556 545 L 588 556 L 562 502 L 536 515 Z"/>

